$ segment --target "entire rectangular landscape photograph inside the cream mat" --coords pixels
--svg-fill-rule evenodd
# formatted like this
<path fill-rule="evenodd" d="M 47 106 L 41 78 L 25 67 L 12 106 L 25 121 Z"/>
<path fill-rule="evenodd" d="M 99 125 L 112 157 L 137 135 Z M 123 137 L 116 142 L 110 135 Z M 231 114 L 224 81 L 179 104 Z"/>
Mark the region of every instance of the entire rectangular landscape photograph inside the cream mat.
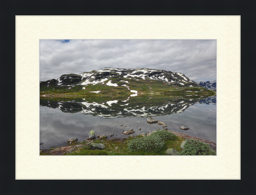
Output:
<path fill-rule="evenodd" d="M 217 155 L 216 47 L 40 40 L 39 154 Z"/>

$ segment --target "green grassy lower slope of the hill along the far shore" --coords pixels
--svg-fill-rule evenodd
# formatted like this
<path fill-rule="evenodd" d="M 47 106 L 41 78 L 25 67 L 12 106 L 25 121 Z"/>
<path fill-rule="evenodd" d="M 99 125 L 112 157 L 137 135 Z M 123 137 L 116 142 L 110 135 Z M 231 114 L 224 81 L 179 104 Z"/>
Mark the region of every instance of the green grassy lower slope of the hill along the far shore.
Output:
<path fill-rule="evenodd" d="M 137 80 L 135 80 L 137 79 Z M 56 86 L 54 84 L 51 84 L 52 81 L 50 81 L 49 86 L 45 86 L 46 84 L 44 82 L 40 83 L 40 95 L 50 94 L 54 93 L 54 96 L 93 96 L 93 97 L 128 97 L 132 92 L 130 92 L 126 87 L 121 85 L 127 85 L 129 86 L 130 90 L 136 90 L 138 91 L 138 95 L 140 93 L 143 93 L 144 95 L 150 95 L 154 94 L 157 96 L 161 95 L 188 95 L 187 90 L 191 90 L 194 92 L 190 92 L 189 95 L 214 95 L 216 94 L 215 91 L 207 90 L 204 87 L 189 87 L 186 85 L 180 85 L 179 83 L 173 83 L 168 84 L 166 82 L 160 81 L 160 80 L 151 80 L 146 78 L 143 80 L 140 77 L 136 77 L 135 79 L 128 79 L 128 78 L 111 78 L 112 83 L 117 83 L 117 87 L 108 86 L 106 83 L 109 81 L 105 81 L 104 84 L 98 83 L 96 85 L 88 84 L 85 85 L 76 85 L 74 87 L 70 86 Z M 127 82 L 124 82 L 127 81 Z M 48 84 L 47 84 L 48 85 Z M 70 88 L 70 89 L 68 89 Z M 84 89 L 82 89 L 84 88 Z M 204 90 L 204 91 L 202 91 Z M 90 91 L 100 91 L 100 93 L 91 93 Z M 195 92 L 198 91 L 198 92 Z"/>

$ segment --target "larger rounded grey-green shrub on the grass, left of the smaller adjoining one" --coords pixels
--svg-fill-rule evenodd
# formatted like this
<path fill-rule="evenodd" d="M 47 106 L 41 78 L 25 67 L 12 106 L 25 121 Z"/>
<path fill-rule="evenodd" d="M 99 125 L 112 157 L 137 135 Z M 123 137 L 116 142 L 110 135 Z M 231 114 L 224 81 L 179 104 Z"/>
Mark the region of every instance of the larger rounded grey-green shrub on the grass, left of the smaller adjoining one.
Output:
<path fill-rule="evenodd" d="M 145 136 L 134 139 L 127 144 L 128 150 L 134 151 L 159 151 L 164 146 L 164 141 L 158 136 Z"/>

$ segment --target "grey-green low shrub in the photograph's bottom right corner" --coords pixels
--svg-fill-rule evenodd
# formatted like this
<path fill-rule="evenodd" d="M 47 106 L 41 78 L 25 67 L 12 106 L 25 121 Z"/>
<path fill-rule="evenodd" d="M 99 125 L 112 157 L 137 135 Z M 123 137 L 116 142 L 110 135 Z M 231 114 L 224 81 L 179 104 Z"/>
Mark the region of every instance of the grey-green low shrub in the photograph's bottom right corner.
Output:
<path fill-rule="evenodd" d="M 209 144 L 199 140 L 188 139 L 184 144 L 183 151 L 175 155 L 216 155 L 216 152 L 210 148 Z"/>

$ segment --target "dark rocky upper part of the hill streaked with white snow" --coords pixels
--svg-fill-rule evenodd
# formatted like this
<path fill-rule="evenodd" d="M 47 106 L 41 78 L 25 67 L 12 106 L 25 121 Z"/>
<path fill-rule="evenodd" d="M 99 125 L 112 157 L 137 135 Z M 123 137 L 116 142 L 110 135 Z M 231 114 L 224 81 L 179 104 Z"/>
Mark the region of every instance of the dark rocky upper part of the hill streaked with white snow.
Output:
<path fill-rule="evenodd" d="M 115 78 L 119 78 L 115 79 Z M 182 73 L 175 73 L 166 70 L 155 70 L 150 68 L 135 68 L 135 69 L 119 69 L 119 68 L 103 68 L 100 70 L 93 70 L 91 72 L 84 72 L 82 74 L 64 74 L 59 79 L 48 80 L 40 82 L 40 86 L 72 86 L 72 85 L 96 85 L 105 84 L 108 80 L 113 80 L 112 86 L 115 86 L 114 81 L 127 82 L 128 80 L 145 82 L 148 79 L 151 81 L 161 81 L 165 84 L 178 87 L 198 87 L 196 82 L 190 80 Z M 50 83 L 50 84 L 49 84 Z M 107 82 L 111 83 L 111 82 Z M 127 82 L 128 83 L 128 82 Z M 108 84 L 107 84 L 108 85 Z M 118 84 L 116 84 L 118 86 Z"/>

